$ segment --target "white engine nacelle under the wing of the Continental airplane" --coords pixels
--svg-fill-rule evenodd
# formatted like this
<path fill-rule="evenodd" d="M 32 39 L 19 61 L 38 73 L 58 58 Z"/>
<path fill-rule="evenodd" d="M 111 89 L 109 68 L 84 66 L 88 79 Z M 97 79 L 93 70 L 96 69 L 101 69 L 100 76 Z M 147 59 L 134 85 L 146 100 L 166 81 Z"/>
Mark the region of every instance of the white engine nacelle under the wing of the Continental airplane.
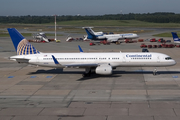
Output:
<path fill-rule="evenodd" d="M 100 75 L 111 75 L 112 74 L 112 67 L 110 65 L 100 65 L 95 70 L 96 74 Z"/>

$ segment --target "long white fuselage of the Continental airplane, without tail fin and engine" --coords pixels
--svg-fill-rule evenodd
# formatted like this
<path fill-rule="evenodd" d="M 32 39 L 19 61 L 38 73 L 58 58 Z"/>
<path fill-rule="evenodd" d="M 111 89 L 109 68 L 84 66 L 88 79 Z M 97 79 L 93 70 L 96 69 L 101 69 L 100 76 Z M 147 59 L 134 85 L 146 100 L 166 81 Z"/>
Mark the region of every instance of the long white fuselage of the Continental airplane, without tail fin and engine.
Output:
<path fill-rule="evenodd" d="M 52 55 L 60 63 L 57 66 L 52 58 Z M 47 67 L 82 67 L 87 68 L 90 65 L 87 64 L 109 64 L 112 67 L 130 66 L 130 67 L 161 67 L 172 66 L 176 62 L 173 59 L 169 59 L 168 55 L 162 53 L 152 52 L 138 52 L 138 53 L 40 53 L 32 55 L 17 55 L 12 56 L 10 59 L 26 59 L 27 63 L 47 66 Z M 93 67 L 93 65 L 91 66 Z M 97 67 L 97 66 L 94 66 Z"/>

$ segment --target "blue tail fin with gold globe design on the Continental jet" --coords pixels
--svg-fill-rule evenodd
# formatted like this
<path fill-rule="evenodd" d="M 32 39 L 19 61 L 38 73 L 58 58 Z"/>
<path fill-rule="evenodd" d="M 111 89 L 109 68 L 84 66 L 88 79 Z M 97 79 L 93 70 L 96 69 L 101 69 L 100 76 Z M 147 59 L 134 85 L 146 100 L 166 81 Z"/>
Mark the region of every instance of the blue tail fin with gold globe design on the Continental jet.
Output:
<path fill-rule="evenodd" d="M 15 28 L 8 28 L 9 35 L 16 49 L 17 55 L 39 54 Z"/>

